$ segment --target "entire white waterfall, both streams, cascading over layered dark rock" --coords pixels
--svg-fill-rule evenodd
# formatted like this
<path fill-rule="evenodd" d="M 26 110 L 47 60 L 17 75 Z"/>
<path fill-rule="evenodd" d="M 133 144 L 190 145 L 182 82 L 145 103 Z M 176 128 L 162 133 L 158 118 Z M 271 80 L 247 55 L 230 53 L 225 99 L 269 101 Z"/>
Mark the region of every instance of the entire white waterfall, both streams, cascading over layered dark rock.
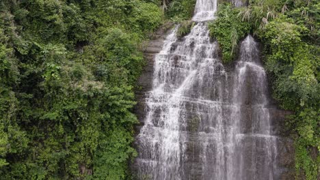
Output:
<path fill-rule="evenodd" d="M 276 137 L 257 44 L 246 37 L 235 72 L 226 72 L 204 23 L 216 8 L 216 0 L 198 0 L 191 33 L 178 40 L 176 27 L 155 57 L 136 140 L 138 179 L 276 177 Z"/>

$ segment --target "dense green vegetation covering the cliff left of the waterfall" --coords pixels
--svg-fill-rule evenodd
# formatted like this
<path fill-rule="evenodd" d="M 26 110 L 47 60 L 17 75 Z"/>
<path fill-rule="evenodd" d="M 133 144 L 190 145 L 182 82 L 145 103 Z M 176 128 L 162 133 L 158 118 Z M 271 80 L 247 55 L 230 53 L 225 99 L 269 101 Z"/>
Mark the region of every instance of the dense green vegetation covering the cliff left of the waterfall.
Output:
<path fill-rule="evenodd" d="M 129 179 L 140 44 L 133 0 L 0 1 L 1 179 Z"/>

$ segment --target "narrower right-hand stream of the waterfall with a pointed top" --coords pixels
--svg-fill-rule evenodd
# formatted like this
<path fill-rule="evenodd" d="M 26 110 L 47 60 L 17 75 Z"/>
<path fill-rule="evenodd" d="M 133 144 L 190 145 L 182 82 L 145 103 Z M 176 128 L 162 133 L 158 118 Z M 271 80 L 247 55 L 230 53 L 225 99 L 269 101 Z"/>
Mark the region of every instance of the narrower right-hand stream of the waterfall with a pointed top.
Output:
<path fill-rule="evenodd" d="M 235 68 L 234 149 L 228 179 L 274 179 L 276 136 L 271 136 L 267 78 L 252 36 L 243 40 Z"/>

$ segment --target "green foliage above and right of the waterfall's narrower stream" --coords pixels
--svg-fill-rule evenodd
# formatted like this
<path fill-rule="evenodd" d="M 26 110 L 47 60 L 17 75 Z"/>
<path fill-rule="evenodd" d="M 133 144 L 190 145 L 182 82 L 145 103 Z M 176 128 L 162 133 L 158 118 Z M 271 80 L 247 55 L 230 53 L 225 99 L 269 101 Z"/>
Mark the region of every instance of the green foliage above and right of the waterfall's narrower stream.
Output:
<path fill-rule="evenodd" d="M 252 33 L 263 46 L 274 98 L 291 110 L 286 127 L 295 139 L 296 179 L 320 175 L 320 1 L 250 0 L 247 7 L 219 4 L 210 33 L 222 60 L 235 60 L 237 45 Z"/>

